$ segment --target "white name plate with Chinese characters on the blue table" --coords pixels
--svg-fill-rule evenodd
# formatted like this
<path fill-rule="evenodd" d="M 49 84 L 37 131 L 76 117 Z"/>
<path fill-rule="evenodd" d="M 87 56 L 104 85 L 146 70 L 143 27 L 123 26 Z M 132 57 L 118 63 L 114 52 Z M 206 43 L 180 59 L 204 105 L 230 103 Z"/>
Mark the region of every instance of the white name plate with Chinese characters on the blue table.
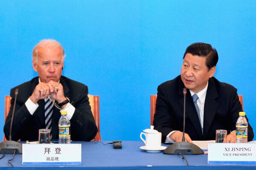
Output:
<path fill-rule="evenodd" d="M 23 165 L 81 165 L 81 144 L 22 144 Z"/>

